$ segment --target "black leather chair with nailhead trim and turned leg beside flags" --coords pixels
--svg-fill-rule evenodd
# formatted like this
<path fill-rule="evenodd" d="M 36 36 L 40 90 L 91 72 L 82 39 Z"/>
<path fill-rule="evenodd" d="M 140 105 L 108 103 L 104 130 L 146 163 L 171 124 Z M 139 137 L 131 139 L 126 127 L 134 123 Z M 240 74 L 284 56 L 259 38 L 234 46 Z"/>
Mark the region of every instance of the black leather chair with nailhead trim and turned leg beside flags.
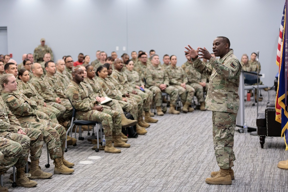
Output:
<path fill-rule="evenodd" d="M 281 123 L 275 121 L 275 104 L 267 104 L 265 113 L 259 113 L 256 119 L 257 134 L 260 139 L 261 148 L 264 148 L 265 137 L 281 137 Z"/>

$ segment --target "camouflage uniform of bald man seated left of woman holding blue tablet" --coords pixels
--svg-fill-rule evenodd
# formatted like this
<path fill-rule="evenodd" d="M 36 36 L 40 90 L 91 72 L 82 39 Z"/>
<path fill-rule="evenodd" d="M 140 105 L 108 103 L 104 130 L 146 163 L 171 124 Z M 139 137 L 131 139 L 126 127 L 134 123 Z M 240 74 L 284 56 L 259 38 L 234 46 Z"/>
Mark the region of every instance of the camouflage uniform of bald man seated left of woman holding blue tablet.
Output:
<path fill-rule="evenodd" d="M 147 101 L 148 96 L 145 98 L 144 94 L 141 94 L 141 95 L 132 94 L 132 91 L 134 89 L 130 87 L 127 81 L 127 76 L 122 71 L 114 70 L 111 76 L 115 79 L 113 83 L 114 84 L 117 83 L 119 85 L 120 91 L 123 94 L 130 93 L 129 98 L 138 104 L 138 117 L 142 117 L 143 103 Z"/>

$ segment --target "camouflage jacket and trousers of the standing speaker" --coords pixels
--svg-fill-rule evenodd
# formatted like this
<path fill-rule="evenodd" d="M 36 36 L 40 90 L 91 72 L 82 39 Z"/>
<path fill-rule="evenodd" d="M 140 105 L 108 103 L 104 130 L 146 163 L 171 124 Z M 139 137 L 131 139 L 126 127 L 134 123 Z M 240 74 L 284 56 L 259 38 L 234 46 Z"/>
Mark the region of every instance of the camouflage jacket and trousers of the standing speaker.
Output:
<path fill-rule="evenodd" d="M 212 57 L 208 68 L 200 59 L 193 66 L 203 75 L 211 74 L 206 96 L 206 109 L 212 111 L 213 143 L 218 166 L 228 169 L 234 166 L 233 151 L 236 117 L 239 109 L 239 81 L 241 64 L 233 51 L 223 58 Z"/>

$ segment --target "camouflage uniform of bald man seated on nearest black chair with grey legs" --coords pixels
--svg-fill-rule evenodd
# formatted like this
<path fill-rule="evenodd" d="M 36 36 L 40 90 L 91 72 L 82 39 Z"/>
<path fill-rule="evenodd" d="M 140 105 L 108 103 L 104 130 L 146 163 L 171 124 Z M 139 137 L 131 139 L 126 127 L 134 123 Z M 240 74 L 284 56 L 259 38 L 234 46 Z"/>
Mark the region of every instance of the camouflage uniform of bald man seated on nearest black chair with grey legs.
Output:
<path fill-rule="evenodd" d="M 71 100 L 76 111 L 76 118 L 86 121 L 102 122 L 102 127 L 107 141 L 112 140 L 113 135 L 121 134 L 121 115 L 118 111 L 103 108 L 103 112 L 93 110 L 98 102 L 95 98 L 90 98 L 85 86 L 70 81 L 66 90 L 67 97 Z"/>

